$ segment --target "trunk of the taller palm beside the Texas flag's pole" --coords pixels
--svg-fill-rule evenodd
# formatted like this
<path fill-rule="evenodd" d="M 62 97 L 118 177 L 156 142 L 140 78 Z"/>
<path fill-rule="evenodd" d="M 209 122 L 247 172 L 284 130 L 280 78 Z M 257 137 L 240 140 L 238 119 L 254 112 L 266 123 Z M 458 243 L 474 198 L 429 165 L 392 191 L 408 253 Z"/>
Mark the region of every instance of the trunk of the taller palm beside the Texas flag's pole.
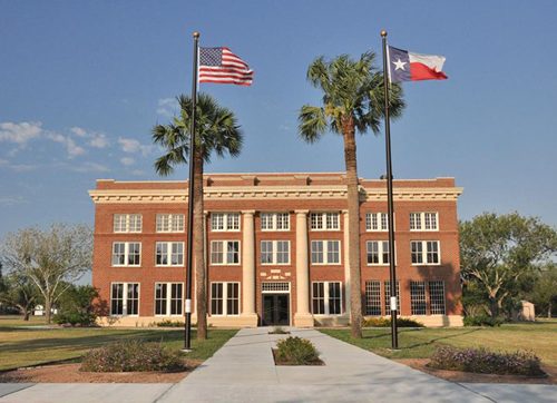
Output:
<path fill-rule="evenodd" d="M 360 269 L 360 194 L 358 191 L 358 166 L 355 154 L 354 121 L 351 116 L 342 119 L 344 137 L 344 161 L 346 165 L 346 188 L 349 210 L 350 256 L 350 324 L 352 337 L 362 337 L 362 292 Z M 346 230 L 344 228 L 344 230 Z"/>

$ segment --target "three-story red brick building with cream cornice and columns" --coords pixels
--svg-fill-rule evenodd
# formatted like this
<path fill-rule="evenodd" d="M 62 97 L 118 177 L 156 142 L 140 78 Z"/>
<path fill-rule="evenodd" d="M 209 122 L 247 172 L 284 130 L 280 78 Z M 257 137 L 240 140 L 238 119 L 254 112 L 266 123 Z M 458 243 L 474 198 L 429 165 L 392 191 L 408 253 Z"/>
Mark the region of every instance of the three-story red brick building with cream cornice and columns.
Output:
<path fill-rule="evenodd" d="M 204 185 L 209 324 L 348 323 L 343 174 L 208 174 Z M 391 258 L 387 186 L 367 179 L 360 186 L 362 309 L 384 316 Z M 426 325 L 462 323 L 461 191 L 452 178 L 394 180 L 400 314 Z M 141 326 L 182 320 L 187 183 L 100 179 L 89 194 L 92 284 L 110 311 L 102 321 Z M 195 301 L 193 306 L 195 321 Z"/>

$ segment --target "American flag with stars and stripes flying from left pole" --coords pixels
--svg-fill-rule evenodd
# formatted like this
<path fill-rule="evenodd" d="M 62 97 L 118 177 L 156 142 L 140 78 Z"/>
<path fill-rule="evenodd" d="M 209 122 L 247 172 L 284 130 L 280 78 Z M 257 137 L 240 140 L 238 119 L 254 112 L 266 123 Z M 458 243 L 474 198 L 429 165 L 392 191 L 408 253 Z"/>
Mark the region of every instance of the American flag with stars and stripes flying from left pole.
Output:
<path fill-rule="evenodd" d="M 199 82 L 251 86 L 253 70 L 228 48 L 199 48 Z"/>

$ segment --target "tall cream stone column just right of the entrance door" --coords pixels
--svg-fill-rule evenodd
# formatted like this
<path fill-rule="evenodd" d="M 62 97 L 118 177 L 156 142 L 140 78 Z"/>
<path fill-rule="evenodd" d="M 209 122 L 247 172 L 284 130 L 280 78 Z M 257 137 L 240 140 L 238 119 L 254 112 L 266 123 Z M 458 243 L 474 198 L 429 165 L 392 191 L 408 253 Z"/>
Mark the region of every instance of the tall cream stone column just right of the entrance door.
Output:
<path fill-rule="evenodd" d="M 310 265 L 307 258 L 307 213 L 296 210 L 296 313 L 294 325 L 313 326 L 310 313 Z"/>

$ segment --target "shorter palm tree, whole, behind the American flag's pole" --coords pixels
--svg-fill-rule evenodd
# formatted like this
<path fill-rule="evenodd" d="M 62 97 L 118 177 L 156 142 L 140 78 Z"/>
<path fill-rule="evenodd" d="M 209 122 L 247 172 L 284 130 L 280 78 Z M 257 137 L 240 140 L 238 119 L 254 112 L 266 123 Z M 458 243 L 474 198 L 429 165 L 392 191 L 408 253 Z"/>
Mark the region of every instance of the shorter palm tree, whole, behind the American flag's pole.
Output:
<path fill-rule="evenodd" d="M 157 174 L 167 176 L 176 166 L 187 164 L 189 156 L 189 128 L 192 124 L 192 98 L 179 96 L 180 116 L 172 124 L 153 128 L 153 141 L 163 146 L 165 153 L 155 161 Z M 194 153 L 194 252 L 195 284 L 197 304 L 197 338 L 207 338 L 207 289 L 204 259 L 203 226 L 203 165 L 211 161 L 215 153 L 218 157 L 240 155 L 243 134 L 234 114 L 218 106 L 205 94 L 197 97 L 196 134 Z"/>

